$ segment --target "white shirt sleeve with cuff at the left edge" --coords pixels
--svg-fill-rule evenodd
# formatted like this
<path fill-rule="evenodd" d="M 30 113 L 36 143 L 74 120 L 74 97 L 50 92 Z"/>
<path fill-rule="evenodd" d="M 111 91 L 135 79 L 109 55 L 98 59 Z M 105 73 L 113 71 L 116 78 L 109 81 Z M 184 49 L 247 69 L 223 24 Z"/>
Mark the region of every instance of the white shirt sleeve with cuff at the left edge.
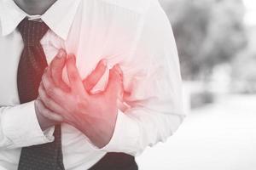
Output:
<path fill-rule="evenodd" d="M 3 150 L 44 144 L 54 140 L 54 127 L 41 130 L 34 101 L 0 108 L 0 148 Z"/>

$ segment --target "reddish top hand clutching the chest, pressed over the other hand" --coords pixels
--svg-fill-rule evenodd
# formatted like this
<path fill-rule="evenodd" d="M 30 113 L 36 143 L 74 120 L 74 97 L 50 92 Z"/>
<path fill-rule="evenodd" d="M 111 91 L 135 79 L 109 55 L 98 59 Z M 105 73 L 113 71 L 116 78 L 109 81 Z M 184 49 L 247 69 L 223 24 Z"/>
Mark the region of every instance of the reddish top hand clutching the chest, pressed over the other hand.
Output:
<path fill-rule="evenodd" d="M 118 101 L 123 94 L 122 71 L 119 65 L 110 70 L 108 86 L 100 94 L 89 94 L 86 90 L 86 83 L 84 86 L 75 65 L 75 56 L 69 55 L 67 58 L 69 89 L 64 88 L 66 85 L 61 85 L 61 89 L 56 84 L 54 79 L 60 82 L 61 76 L 54 76 L 53 72 L 58 69 L 60 66 L 51 65 L 44 73 L 43 83 L 39 88 L 40 99 L 46 108 L 59 114 L 64 122 L 78 128 L 96 146 L 108 144 L 115 127 Z"/>

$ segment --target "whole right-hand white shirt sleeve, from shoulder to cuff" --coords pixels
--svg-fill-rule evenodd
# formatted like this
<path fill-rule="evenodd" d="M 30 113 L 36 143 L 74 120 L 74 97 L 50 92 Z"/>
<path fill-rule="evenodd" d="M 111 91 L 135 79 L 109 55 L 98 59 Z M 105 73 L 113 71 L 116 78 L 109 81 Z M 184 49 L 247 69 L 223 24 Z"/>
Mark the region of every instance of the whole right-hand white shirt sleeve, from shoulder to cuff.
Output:
<path fill-rule="evenodd" d="M 126 80 L 131 77 L 125 87 L 131 108 L 119 111 L 112 139 L 99 150 L 139 155 L 147 146 L 166 141 L 185 117 L 177 47 L 158 1 L 145 14 L 134 56 L 134 74 L 125 75 Z"/>

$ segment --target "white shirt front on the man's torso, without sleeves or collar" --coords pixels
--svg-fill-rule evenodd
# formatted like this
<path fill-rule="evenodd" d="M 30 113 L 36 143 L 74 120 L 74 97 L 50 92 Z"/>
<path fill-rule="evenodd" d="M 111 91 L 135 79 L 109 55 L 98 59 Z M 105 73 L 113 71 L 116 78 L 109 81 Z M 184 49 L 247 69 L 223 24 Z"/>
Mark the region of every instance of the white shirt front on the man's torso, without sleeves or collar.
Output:
<path fill-rule="evenodd" d="M 122 66 L 126 77 L 125 88 L 129 89 L 129 77 L 139 68 L 134 65 L 136 59 L 132 56 L 132 51 L 136 48 L 137 35 L 143 26 L 143 9 L 143 5 L 136 6 L 125 1 L 81 1 L 67 40 L 58 37 L 54 31 L 49 31 L 43 37 L 41 44 L 48 63 L 58 49 L 64 48 L 67 53 L 77 56 L 77 66 L 81 77 L 84 78 L 100 59 L 108 59 L 109 67 L 116 63 Z M 8 36 L 0 37 L 0 106 L 20 103 L 16 77 L 22 49 L 23 42 L 17 30 Z M 65 73 L 63 77 L 67 80 Z M 94 90 L 103 89 L 107 80 L 108 72 Z M 106 154 L 92 147 L 83 133 L 67 124 L 62 125 L 62 150 L 67 169 L 86 169 Z M 15 169 L 19 156 L 20 149 L 1 150 L 0 167 Z"/>

